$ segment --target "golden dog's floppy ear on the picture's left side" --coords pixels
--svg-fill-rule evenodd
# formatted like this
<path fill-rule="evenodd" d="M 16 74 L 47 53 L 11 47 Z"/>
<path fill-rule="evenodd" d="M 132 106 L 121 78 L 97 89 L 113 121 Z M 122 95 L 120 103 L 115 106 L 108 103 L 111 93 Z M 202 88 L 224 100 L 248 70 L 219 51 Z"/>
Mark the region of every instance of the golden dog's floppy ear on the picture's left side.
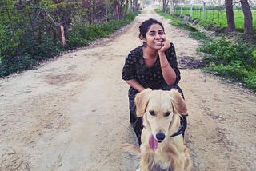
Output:
<path fill-rule="evenodd" d="M 152 89 L 144 89 L 142 92 L 137 93 L 134 102 L 136 105 L 136 115 L 137 117 L 142 117 L 146 111 L 146 105 L 150 100 L 150 93 Z"/>

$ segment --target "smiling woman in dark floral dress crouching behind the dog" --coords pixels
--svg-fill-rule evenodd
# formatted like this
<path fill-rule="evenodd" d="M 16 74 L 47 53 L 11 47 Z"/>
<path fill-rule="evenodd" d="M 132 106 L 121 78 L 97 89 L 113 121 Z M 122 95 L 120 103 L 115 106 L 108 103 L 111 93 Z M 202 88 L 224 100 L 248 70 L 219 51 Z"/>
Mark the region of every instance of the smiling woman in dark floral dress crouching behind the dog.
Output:
<path fill-rule="evenodd" d="M 130 103 L 130 123 L 134 125 L 134 131 L 141 145 L 141 133 L 143 129 L 142 118 L 136 117 L 134 97 L 143 89 L 182 89 L 178 87 L 181 79 L 174 44 L 166 40 L 166 34 L 161 22 L 150 18 L 139 26 L 138 37 L 143 45 L 130 51 L 122 69 L 122 79 L 130 85 L 128 92 Z M 182 94 L 183 97 L 183 94 Z M 184 133 L 186 129 L 186 118 Z"/>

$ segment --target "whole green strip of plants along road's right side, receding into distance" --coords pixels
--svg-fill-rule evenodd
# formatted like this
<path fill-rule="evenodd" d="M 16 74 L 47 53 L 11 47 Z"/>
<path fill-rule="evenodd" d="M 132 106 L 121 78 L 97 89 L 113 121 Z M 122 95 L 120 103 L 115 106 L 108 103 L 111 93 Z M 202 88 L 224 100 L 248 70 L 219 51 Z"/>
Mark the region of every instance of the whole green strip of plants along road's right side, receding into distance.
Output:
<path fill-rule="evenodd" d="M 170 19 L 172 25 L 190 30 L 190 37 L 202 42 L 197 50 L 199 54 L 202 54 L 202 60 L 205 63 L 205 67 L 202 70 L 226 78 L 256 92 L 255 34 L 222 33 L 215 38 L 210 38 L 200 32 L 196 26 L 182 24 L 182 17 L 178 15 L 171 16 L 163 13 L 162 10 L 156 10 L 156 12 Z M 212 24 L 209 22 L 209 25 L 207 25 L 204 22 L 203 26 L 212 30 L 214 28 Z M 218 28 L 218 26 L 215 28 Z"/>

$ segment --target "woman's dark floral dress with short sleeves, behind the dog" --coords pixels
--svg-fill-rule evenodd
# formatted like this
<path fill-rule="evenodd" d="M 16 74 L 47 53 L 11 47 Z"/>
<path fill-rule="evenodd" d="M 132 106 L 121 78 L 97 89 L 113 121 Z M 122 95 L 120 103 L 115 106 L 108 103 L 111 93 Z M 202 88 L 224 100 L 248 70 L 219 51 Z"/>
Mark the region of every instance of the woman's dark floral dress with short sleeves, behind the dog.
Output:
<path fill-rule="evenodd" d="M 125 64 L 122 69 L 122 79 L 130 80 L 136 79 L 145 88 L 150 89 L 178 89 L 182 93 L 182 89 L 178 87 L 178 82 L 181 79 L 180 71 L 178 70 L 178 62 L 176 58 L 174 44 L 170 43 L 170 48 L 166 50 L 166 58 L 170 63 L 170 66 L 176 73 L 176 82 L 174 85 L 167 85 L 166 81 L 162 76 L 162 70 L 160 65 L 160 59 L 157 58 L 153 66 L 147 67 L 143 58 L 142 52 L 143 46 L 138 46 L 134 50 L 130 51 L 126 58 Z M 141 133 L 143 129 L 142 118 L 136 117 L 136 106 L 134 104 L 134 97 L 138 93 L 136 89 L 130 87 L 128 92 L 129 97 L 129 108 L 130 108 L 130 123 L 134 123 L 134 131 L 138 137 L 138 143 L 141 144 Z M 183 97 L 183 93 L 182 93 Z"/>

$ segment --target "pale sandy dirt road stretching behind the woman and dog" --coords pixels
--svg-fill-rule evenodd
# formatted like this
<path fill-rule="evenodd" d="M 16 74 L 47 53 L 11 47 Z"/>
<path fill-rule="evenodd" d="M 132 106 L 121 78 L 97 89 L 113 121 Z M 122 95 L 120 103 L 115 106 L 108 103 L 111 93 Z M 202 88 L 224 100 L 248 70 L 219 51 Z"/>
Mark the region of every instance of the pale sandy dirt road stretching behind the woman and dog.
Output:
<path fill-rule="evenodd" d="M 118 149 L 136 141 L 121 76 L 148 18 L 163 22 L 182 61 L 193 170 L 256 170 L 255 94 L 187 69 L 198 42 L 150 8 L 94 46 L 0 79 L 0 170 L 135 170 L 138 157 Z"/>

